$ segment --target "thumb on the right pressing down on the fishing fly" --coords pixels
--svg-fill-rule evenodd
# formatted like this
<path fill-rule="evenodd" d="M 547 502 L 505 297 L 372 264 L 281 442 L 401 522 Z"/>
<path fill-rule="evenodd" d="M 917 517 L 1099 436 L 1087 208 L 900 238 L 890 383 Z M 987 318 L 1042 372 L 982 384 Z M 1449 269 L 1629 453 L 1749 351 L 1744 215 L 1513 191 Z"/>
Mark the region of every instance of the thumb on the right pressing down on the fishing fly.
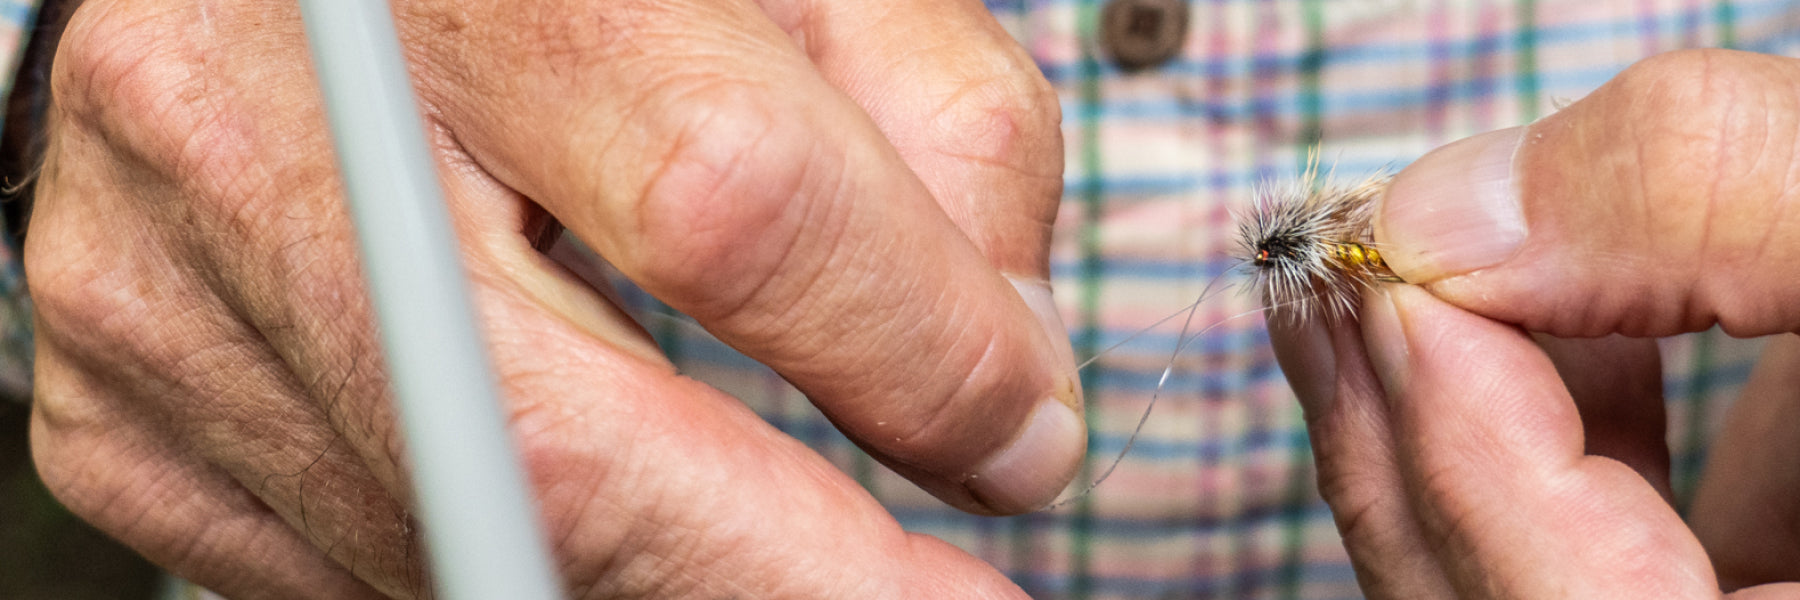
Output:
<path fill-rule="evenodd" d="M 1562 337 L 1800 330 L 1800 61 L 1661 54 L 1444 146 L 1375 216 L 1406 281 Z"/>

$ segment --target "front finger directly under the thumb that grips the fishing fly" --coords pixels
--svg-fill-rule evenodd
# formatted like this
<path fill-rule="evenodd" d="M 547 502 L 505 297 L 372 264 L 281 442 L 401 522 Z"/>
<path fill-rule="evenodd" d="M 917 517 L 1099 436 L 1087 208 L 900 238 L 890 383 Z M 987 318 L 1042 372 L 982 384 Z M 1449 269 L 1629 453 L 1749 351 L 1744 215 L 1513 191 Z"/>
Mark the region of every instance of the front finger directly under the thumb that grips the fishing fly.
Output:
<path fill-rule="evenodd" d="M 1526 335 L 1417 286 L 1366 297 L 1363 333 L 1406 490 L 1460 596 L 1717 596 L 1661 495 L 1582 454 L 1575 404 Z"/>

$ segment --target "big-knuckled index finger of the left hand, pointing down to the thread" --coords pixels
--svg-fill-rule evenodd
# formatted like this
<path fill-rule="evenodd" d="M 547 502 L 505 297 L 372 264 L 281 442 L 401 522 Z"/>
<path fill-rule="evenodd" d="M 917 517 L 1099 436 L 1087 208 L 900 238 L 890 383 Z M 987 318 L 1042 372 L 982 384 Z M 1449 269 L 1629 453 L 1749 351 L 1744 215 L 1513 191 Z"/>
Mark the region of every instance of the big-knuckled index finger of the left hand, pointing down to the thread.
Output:
<path fill-rule="evenodd" d="M 945 501 L 1022 512 L 1073 477 L 1073 360 L 760 7 L 491 9 L 403 11 L 421 47 L 491 50 L 421 76 L 482 168 Z"/>

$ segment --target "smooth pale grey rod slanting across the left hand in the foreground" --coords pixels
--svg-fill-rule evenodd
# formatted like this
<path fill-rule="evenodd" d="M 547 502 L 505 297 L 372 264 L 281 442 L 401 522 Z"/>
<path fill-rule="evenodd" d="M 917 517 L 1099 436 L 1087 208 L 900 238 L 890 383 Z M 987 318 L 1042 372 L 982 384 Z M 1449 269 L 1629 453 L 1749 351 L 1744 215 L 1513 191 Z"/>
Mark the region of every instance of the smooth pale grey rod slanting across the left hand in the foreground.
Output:
<path fill-rule="evenodd" d="M 441 596 L 558 598 L 387 2 L 301 0 Z"/>

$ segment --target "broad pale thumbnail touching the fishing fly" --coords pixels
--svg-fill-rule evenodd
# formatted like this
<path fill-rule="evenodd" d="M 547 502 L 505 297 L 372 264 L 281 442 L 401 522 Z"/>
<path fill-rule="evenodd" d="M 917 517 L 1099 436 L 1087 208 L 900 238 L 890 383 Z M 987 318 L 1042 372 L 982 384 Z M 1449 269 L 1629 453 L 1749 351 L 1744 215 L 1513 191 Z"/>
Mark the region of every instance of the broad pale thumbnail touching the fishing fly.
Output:
<path fill-rule="evenodd" d="M 1375 218 L 1381 254 L 1402 279 L 1429 283 L 1494 267 L 1525 241 L 1512 159 L 1525 128 L 1433 150 L 1393 177 Z"/>

